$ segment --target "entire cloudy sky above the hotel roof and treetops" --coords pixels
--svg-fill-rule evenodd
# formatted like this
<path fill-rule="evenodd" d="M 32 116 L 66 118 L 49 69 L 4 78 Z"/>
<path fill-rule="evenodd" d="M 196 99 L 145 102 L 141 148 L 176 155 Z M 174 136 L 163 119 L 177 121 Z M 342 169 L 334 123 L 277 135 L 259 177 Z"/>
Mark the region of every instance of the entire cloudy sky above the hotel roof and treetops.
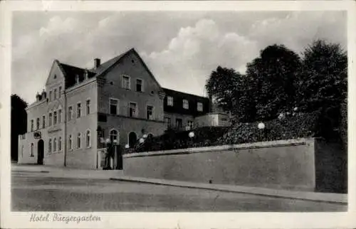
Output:
<path fill-rule="evenodd" d="M 81 68 L 135 48 L 163 87 L 204 95 L 218 65 L 246 70 L 274 43 L 300 53 L 317 38 L 346 50 L 342 11 L 16 12 L 12 92 L 33 102 L 54 59 Z"/>

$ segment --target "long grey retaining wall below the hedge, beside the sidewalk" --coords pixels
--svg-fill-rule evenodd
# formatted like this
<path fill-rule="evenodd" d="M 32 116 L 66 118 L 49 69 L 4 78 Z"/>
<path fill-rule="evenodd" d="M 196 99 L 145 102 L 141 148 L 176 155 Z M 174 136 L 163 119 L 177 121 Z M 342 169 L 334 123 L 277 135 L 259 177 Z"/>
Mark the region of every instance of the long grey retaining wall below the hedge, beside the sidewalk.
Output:
<path fill-rule="evenodd" d="M 328 159 L 315 157 L 315 139 L 154 151 L 124 155 L 124 174 L 199 183 L 235 184 L 314 191 Z M 328 161 L 328 166 L 318 164 Z M 318 171 L 317 171 L 318 169 Z M 318 176 L 318 177 L 317 177 Z M 329 182 L 330 183 L 330 182 Z M 325 189 L 325 187 L 324 187 Z"/>

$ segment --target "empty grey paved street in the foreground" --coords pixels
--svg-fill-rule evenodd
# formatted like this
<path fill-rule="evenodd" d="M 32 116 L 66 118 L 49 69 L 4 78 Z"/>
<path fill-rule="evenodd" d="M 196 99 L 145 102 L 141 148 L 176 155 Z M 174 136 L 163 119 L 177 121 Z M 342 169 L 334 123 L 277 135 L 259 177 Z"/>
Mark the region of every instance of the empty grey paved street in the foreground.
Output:
<path fill-rule="evenodd" d="M 45 176 L 46 175 L 46 176 Z M 347 211 L 336 203 L 12 171 L 12 211 Z"/>

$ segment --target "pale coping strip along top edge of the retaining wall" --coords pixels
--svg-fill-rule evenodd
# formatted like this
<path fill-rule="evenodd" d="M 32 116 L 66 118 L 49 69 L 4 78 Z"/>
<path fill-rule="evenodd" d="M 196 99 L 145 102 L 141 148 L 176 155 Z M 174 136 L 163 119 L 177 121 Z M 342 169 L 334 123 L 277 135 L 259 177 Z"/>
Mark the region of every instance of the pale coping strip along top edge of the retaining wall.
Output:
<path fill-rule="evenodd" d="M 277 140 L 268 142 L 253 142 L 244 144 L 229 144 L 214 147 L 195 147 L 186 149 L 170 149 L 162 151 L 147 151 L 132 154 L 123 154 L 123 158 L 132 157 L 142 157 L 142 156 L 163 156 L 163 155 L 174 155 L 174 154 L 194 154 L 194 153 L 206 153 L 211 151 L 230 151 L 230 150 L 243 150 L 243 149 L 259 149 L 259 148 L 271 148 L 271 147 L 288 147 L 288 146 L 298 146 L 307 145 L 313 143 L 315 138 L 298 138 L 298 139 L 287 139 L 287 140 Z"/>

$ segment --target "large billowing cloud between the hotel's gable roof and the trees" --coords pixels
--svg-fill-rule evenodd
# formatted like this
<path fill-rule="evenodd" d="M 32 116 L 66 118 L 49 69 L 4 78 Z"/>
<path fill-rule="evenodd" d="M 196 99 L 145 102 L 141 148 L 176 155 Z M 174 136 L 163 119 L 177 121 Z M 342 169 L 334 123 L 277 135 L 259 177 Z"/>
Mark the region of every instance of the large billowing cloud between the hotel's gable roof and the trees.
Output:
<path fill-rule="evenodd" d="M 211 70 L 218 65 L 244 70 L 257 54 L 256 42 L 221 31 L 214 20 L 201 19 L 180 28 L 164 50 L 142 57 L 165 87 L 201 95 Z"/>

